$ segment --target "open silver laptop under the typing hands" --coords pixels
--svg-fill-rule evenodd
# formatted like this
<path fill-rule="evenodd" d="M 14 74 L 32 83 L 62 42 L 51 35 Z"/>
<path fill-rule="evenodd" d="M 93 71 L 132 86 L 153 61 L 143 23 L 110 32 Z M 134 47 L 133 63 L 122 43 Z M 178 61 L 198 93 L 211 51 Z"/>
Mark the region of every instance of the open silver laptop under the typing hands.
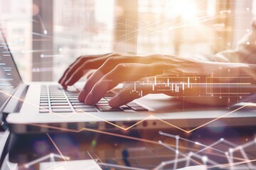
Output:
<path fill-rule="evenodd" d="M 0 105 L 2 125 L 14 133 L 80 132 L 81 130 L 146 130 L 255 125 L 254 111 L 186 103 L 164 94 L 150 94 L 111 108 L 109 91 L 95 106 L 78 101 L 80 85 L 63 89 L 56 82 L 24 84 L 8 43 L 0 36 Z M 221 123 L 220 123 L 221 122 Z"/>

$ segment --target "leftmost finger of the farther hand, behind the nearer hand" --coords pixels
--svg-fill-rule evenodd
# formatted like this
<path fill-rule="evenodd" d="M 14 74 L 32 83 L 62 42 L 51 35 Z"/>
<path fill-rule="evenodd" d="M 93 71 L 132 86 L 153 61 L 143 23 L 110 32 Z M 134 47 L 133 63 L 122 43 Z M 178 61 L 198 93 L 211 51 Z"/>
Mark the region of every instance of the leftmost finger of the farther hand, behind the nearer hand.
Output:
<path fill-rule="evenodd" d="M 83 57 L 81 60 L 76 62 L 73 67 L 65 74 L 63 81 L 61 82 L 62 86 L 70 86 L 75 84 L 86 72 L 90 69 L 97 69 L 102 65 L 108 57 L 114 54 L 108 55 L 95 55 L 90 57 Z"/>

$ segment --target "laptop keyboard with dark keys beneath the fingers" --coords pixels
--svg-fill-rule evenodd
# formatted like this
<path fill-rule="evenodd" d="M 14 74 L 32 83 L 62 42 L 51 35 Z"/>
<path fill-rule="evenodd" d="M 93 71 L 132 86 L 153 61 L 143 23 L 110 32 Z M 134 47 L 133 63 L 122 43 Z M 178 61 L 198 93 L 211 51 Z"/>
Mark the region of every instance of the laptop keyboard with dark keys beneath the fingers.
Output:
<path fill-rule="evenodd" d="M 97 111 L 148 111 L 137 103 L 130 102 L 119 108 L 110 107 L 108 101 L 114 94 L 107 92 L 94 106 L 78 101 L 79 91 L 65 91 L 58 85 L 42 85 L 39 113 L 73 113 Z"/>

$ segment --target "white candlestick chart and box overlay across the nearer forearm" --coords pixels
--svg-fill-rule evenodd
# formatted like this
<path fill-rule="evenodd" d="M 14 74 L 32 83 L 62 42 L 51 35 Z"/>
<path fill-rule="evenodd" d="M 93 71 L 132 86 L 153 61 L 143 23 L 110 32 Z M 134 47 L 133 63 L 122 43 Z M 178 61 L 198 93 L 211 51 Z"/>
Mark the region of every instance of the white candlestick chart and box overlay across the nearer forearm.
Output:
<path fill-rule="evenodd" d="M 204 79 L 204 80 L 203 80 Z M 170 92 L 174 96 L 176 94 L 186 95 L 186 90 L 196 89 L 195 97 L 200 96 L 223 96 L 238 95 L 242 96 L 250 94 L 247 89 L 252 89 L 252 77 L 146 77 L 142 81 L 134 82 L 134 87 L 130 90 L 130 94 L 137 93 L 144 96 L 144 88 L 149 88 L 155 93 Z M 222 82 L 223 81 L 223 82 Z M 199 89 L 199 90 L 198 90 Z M 191 96 L 190 96 L 191 97 Z"/>

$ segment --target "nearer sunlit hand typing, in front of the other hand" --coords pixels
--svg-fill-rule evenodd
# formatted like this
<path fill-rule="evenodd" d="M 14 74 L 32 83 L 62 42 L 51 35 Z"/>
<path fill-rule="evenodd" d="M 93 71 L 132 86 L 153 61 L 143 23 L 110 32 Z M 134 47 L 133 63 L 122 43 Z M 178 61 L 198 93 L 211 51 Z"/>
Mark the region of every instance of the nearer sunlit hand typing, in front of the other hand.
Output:
<path fill-rule="evenodd" d="M 166 57 L 162 55 L 151 55 L 146 57 L 110 57 L 89 79 L 87 79 L 84 88 L 80 92 L 78 100 L 93 105 L 97 103 L 97 101 L 100 101 L 100 98 L 102 98 L 107 91 L 113 89 L 117 84 L 122 82 L 134 82 L 146 77 L 149 77 L 149 79 L 153 77 L 154 79 L 154 76 L 183 75 L 186 70 L 191 68 L 196 68 L 196 70 L 190 70 L 189 74 L 202 73 L 201 67 L 198 67 L 197 64 L 200 66 L 199 62 L 194 62 L 193 60 L 186 60 L 181 57 Z M 139 83 L 137 85 L 138 93 L 132 92 L 134 89 L 133 83 L 132 85 L 127 85 L 119 92 L 119 94 L 109 101 L 110 106 L 118 107 L 125 103 L 129 103 L 129 101 L 141 97 L 142 95 L 139 95 L 141 94 L 141 91 L 143 95 L 150 93 L 174 95 L 171 91 L 157 91 L 156 89 L 153 90 L 152 86 L 139 86 Z"/>

